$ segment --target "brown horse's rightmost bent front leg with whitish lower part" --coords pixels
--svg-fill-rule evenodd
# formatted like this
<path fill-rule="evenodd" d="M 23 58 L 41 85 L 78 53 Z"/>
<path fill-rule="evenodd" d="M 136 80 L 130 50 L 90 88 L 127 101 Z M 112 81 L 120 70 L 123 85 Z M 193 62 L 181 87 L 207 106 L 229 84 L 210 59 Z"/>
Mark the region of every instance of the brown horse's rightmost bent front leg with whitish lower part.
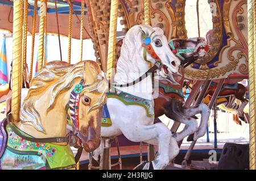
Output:
<path fill-rule="evenodd" d="M 210 110 L 208 106 L 206 104 L 199 104 L 193 108 L 185 108 L 183 113 L 187 116 L 195 116 L 197 113 L 201 113 L 200 125 L 193 136 L 193 140 L 195 141 L 198 138 L 204 136 L 210 116 Z"/>

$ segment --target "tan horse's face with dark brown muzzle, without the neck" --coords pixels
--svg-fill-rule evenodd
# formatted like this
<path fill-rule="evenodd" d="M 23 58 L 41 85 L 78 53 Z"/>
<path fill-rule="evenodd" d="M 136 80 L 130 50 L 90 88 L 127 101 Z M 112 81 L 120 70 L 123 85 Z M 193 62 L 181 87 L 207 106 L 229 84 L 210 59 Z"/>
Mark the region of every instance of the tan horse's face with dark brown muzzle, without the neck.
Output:
<path fill-rule="evenodd" d="M 90 64 L 93 65 L 96 62 L 90 62 Z M 100 146 L 101 115 L 103 106 L 106 103 L 105 91 L 107 90 L 107 82 L 101 74 L 100 67 L 92 65 L 88 63 L 85 65 L 91 67 L 85 67 L 85 78 L 83 78 L 85 80 L 88 79 L 89 82 L 85 81 L 78 84 L 79 92 L 81 91 L 79 100 L 77 99 L 77 105 L 79 106 L 73 107 L 75 105 L 72 101 L 69 101 L 70 113 L 73 113 L 71 119 L 73 119 L 73 122 L 74 119 L 77 119 L 76 123 L 78 125 L 75 126 L 78 131 L 77 136 L 87 152 L 93 151 Z M 77 87 L 74 88 L 75 91 L 76 89 Z"/>

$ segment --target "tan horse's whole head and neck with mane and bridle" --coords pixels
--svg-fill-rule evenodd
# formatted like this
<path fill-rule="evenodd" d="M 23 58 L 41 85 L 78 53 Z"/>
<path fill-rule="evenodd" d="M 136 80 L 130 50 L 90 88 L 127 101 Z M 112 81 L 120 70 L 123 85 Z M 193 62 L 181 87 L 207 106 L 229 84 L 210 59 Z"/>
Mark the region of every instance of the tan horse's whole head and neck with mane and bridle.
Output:
<path fill-rule="evenodd" d="M 107 85 L 94 61 L 75 65 L 49 62 L 31 81 L 21 106 L 19 125 L 33 137 L 63 137 L 70 120 L 69 125 L 84 149 L 93 151 L 100 145 Z"/>

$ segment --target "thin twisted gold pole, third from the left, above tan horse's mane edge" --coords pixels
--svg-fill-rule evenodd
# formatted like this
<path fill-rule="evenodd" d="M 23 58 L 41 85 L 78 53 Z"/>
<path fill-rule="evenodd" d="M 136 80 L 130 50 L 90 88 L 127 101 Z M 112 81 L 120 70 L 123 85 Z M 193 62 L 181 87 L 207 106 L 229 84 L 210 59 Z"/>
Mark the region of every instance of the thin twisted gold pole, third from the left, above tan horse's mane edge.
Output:
<path fill-rule="evenodd" d="M 32 43 L 31 43 L 31 56 L 30 56 L 30 81 L 32 79 L 32 72 L 33 72 L 37 7 L 38 7 L 38 0 L 35 0 L 34 1 L 34 15 L 33 15 L 33 21 L 32 21 Z"/>

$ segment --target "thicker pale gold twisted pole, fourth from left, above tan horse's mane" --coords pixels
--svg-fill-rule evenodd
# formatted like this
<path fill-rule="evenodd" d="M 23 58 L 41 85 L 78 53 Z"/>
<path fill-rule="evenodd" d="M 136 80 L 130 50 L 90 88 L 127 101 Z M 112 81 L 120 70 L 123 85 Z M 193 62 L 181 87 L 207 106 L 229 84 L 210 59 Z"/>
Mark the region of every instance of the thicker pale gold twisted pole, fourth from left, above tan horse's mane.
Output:
<path fill-rule="evenodd" d="M 40 24 L 39 24 L 39 46 L 38 46 L 38 73 L 43 66 L 44 52 L 44 16 L 46 15 L 47 0 L 40 0 Z"/>

